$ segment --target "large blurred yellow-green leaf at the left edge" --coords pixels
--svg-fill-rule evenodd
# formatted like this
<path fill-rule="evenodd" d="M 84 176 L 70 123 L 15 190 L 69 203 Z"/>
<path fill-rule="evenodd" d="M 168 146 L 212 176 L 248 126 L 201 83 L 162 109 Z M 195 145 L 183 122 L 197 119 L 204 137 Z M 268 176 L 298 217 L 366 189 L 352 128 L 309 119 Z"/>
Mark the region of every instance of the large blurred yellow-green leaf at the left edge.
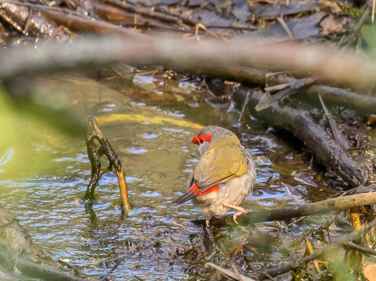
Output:
<path fill-rule="evenodd" d="M 2 179 L 54 169 L 56 153 L 72 144 L 81 151 L 85 117 L 36 103 L 33 95 L 11 97 L 0 83 L 0 175 Z M 54 151 L 54 152 L 53 152 Z"/>

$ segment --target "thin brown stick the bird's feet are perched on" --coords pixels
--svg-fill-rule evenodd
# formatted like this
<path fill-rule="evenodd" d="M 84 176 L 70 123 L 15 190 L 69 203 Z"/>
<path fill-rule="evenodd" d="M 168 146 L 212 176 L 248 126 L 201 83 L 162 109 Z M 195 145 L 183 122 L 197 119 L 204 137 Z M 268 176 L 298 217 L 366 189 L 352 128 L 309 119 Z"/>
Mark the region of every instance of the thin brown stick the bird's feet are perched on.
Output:
<path fill-rule="evenodd" d="M 370 186 L 375 188 L 376 185 Z M 239 225 L 252 225 L 259 222 L 284 221 L 304 216 L 321 215 L 333 211 L 344 210 L 351 207 L 376 204 L 376 192 L 355 194 L 331 198 L 319 202 L 304 205 L 289 206 L 274 210 L 261 210 L 249 212 L 238 216 Z M 194 224 L 205 225 L 205 220 L 195 220 Z M 212 227 L 236 226 L 232 215 L 222 218 L 213 218 L 210 221 Z"/>

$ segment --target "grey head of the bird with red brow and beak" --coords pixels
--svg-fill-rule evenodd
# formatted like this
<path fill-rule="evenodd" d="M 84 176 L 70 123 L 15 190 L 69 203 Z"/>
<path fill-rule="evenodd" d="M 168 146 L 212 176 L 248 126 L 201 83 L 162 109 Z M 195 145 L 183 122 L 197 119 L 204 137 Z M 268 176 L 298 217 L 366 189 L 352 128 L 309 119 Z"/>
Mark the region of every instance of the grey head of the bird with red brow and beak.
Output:
<path fill-rule="evenodd" d="M 199 131 L 197 136 L 194 137 L 191 142 L 199 146 L 199 152 L 202 156 L 206 152 L 206 150 L 208 150 L 208 148 L 211 147 L 211 145 L 214 144 L 215 141 L 217 141 L 217 139 L 225 135 L 235 136 L 232 131 L 225 128 L 218 126 L 206 126 L 201 131 Z"/>

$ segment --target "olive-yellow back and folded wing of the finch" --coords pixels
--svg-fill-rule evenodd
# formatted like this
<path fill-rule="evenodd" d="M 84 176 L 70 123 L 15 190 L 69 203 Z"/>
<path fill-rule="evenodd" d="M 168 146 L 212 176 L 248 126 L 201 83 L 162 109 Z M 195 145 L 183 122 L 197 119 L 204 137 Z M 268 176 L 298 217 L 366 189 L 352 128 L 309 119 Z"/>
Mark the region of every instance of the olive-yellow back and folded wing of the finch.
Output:
<path fill-rule="evenodd" d="M 240 177 L 247 171 L 247 159 L 239 149 L 216 147 L 204 153 L 194 172 L 201 191 Z"/>

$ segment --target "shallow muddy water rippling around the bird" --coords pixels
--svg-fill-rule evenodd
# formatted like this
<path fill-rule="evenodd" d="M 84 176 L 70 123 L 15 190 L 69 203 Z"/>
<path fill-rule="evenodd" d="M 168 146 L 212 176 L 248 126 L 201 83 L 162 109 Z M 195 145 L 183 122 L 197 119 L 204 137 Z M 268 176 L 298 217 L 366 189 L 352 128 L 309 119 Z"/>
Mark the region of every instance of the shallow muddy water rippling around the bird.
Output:
<path fill-rule="evenodd" d="M 148 83 L 142 91 L 153 92 Z M 300 239 L 329 218 L 223 229 L 215 242 L 208 241 L 190 222 L 200 217 L 200 210 L 191 203 L 171 204 L 185 190 L 198 161 L 197 147 L 190 140 L 202 126 L 231 128 L 252 153 L 257 183 L 243 204 L 247 210 L 323 199 L 338 192 L 333 186 L 340 183 L 309 167 L 310 155 L 291 148 L 263 124 L 246 119 L 240 127 L 232 126 L 239 112 L 226 113 L 226 108 L 211 107 L 212 102 L 164 100 L 159 91 L 153 92 L 159 95 L 153 99 L 138 95 L 140 86 L 124 86 L 124 95 L 84 77 L 53 78 L 42 85 L 35 90 L 38 95 L 59 92 L 64 107 L 97 117 L 123 163 L 132 211 L 121 214 L 112 172 L 100 180 L 92 210 L 85 209 L 81 198 L 90 163 L 83 137 L 34 123 L 18 128 L 22 144 L 9 145 L 0 154 L 0 203 L 17 216 L 34 242 L 85 275 L 103 275 L 117 261 L 112 280 L 132 280 L 134 275 L 145 280 L 209 280 L 214 272 L 203 267 L 208 261 L 225 266 L 232 261 L 250 275 L 300 255 Z M 246 237 L 248 248 L 232 256 Z M 258 243 L 253 245 L 253 240 Z M 263 241 L 265 247 L 260 246 Z"/>

